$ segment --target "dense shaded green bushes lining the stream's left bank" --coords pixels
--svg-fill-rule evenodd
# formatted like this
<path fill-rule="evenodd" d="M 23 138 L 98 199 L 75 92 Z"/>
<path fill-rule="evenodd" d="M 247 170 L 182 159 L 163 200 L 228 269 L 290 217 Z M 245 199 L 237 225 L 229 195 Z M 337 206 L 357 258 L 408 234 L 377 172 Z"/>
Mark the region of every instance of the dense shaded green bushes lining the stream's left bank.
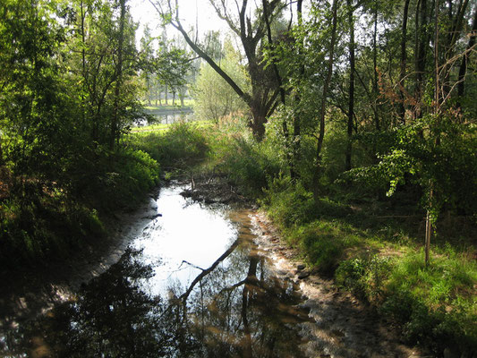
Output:
<path fill-rule="evenodd" d="M 141 150 L 85 151 L 66 167 L 69 185 L 31 181 L 0 207 L 3 267 L 62 259 L 85 241 L 106 235 L 100 215 L 132 208 L 158 184 L 156 160 Z M 16 192 L 24 192 L 17 195 Z"/>

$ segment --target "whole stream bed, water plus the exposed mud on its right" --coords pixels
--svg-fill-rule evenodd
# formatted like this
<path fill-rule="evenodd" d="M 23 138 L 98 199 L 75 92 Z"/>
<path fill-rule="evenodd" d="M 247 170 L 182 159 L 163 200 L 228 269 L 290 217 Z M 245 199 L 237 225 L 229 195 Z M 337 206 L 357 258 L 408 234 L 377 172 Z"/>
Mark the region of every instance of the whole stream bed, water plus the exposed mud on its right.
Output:
<path fill-rule="evenodd" d="M 360 328 L 326 286 L 303 286 L 255 213 L 184 199 L 184 189 L 161 189 L 117 262 L 0 335 L 0 355 L 419 356 L 373 322 Z"/>

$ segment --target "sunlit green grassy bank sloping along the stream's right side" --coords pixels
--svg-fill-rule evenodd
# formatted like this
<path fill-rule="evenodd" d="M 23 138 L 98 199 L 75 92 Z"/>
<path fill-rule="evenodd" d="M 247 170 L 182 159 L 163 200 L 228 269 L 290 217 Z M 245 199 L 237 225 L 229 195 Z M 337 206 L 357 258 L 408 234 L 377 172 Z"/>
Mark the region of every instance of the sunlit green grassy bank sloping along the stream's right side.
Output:
<path fill-rule="evenodd" d="M 353 213 L 330 198 L 317 206 L 287 178 L 275 179 L 262 202 L 311 267 L 400 324 L 408 342 L 438 355 L 446 347 L 477 351 L 477 262 L 462 237 L 440 234 L 426 267 L 422 233 L 399 219 Z"/>

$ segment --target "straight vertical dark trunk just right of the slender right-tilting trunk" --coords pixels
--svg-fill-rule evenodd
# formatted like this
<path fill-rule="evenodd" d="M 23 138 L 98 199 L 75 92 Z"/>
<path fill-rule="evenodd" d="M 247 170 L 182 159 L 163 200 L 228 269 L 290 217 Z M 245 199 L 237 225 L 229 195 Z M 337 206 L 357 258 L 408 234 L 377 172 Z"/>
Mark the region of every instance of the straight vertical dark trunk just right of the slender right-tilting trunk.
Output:
<path fill-rule="evenodd" d="M 351 170 L 351 157 L 353 150 L 353 117 L 354 117 L 354 20 L 353 20 L 353 1 L 347 0 L 348 5 L 348 24 L 350 31 L 349 41 L 349 62 L 350 62 L 350 79 L 349 79 L 349 99 L 348 99 L 348 128 L 345 155 L 345 170 Z"/>

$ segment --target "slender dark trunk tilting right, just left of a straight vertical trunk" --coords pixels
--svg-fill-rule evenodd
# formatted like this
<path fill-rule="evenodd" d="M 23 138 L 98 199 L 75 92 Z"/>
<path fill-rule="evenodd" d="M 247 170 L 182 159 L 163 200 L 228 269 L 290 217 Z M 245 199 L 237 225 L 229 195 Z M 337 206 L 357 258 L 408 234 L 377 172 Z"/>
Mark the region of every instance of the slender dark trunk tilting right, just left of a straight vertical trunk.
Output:
<path fill-rule="evenodd" d="M 332 4 L 332 28 L 331 28 L 331 42 L 329 44 L 329 59 L 328 59 L 328 72 L 325 83 L 323 84 L 323 92 L 321 93 L 321 108 L 319 111 L 319 136 L 316 146 L 315 168 L 313 173 L 313 200 L 315 204 L 318 204 L 319 200 L 319 178 L 321 175 L 321 149 L 323 147 L 323 140 L 325 138 L 325 115 L 327 110 L 327 98 L 329 90 L 329 82 L 331 81 L 331 75 L 333 73 L 333 62 L 335 55 L 335 42 L 336 42 L 336 22 L 337 22 L 337 0 L 333 0 Z"/>

